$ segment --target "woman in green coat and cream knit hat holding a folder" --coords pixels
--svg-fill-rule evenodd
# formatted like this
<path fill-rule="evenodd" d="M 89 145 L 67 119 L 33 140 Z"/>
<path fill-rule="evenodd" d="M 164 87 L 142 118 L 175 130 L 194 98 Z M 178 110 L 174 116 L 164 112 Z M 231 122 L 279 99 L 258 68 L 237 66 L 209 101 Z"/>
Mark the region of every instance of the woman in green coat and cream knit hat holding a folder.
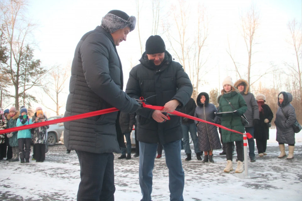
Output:
<path fill-rule="evenodd" d="M 221 98 L 219 100 L 219 112 L 232 112 L 221 115 L 221 125 L 230 128 L 232 130 L 245 132 L 244 125 L 240 115 L 247 110 L 247 105 L 243 96 L 234 87 L 231 77 L 226 77 L 222 82 L 223 90 L 221 90 Z M 230 104 L 231 103 L 231 104 Z M 232 106 L 233 107 L 232 107 Z M 236 173 L 243 172 L 243 135 L 239 133 L 233 133 L 222 129 L 221 131 L 222 141 L 226 144 L 226 160 L 227 165 L 223 170 L 230 172 L 233 170 L 232 164 L 232 144 L 235 142 L 237 151 L 237 168 Z"/>

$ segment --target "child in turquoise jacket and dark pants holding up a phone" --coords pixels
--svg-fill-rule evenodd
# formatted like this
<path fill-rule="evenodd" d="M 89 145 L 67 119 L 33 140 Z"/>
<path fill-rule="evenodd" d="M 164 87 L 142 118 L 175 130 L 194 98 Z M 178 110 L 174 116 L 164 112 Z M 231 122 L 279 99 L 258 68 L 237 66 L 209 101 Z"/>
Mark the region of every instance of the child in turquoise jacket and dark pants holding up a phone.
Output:
<path fill-rule="evenodd" d="M 25 107 L 20 110 L 20 113 L 21 115 L 19 116 L 19 120 L 17 120 L 17 126 L 32 124 Z M 25 163 L 29 163 L 29 156 L 31 154 L 31 129 L 18 131 L 18 143 L 21 163 L 24 163 L 24 159 Z"/>

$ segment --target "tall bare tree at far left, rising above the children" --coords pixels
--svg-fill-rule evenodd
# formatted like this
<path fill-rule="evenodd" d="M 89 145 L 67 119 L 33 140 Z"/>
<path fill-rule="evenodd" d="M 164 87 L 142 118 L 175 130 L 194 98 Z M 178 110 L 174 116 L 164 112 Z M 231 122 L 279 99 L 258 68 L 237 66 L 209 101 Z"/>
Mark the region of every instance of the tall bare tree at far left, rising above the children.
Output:
<path fill-rule="evenodd" d="M 36 98 L 25 91 L 38 86 L 39 81 L 47 72 L 40 65 L 40 60 L 33 59 L 33 48 L 28 44 L 35 24 L 27 20 L 25 11 L 26 0 L 0 1 L 0 23 L 3 38 L 8 44 L 8 61 L 1 65 L 1 70 L 8 73 L 15 88 L 15 107 L 19 109 L 19 98 L 25 98 L 30 106 Z M 21 91 L 20 91 L 21 90 Z"/>

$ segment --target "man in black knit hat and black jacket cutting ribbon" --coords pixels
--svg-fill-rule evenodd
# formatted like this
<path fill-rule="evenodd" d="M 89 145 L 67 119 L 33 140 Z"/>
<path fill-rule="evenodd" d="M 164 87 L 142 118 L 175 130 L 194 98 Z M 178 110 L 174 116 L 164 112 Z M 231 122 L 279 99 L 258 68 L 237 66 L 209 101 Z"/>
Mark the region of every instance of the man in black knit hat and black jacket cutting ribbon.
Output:
<path fill-rule="evenodd" d="M 193 87 L 178 62 L 165 50 L 165 42 L 159 35 L 151 35 L 146 41 L 146 52 L 141 63 L 130 71 L 126 93 L 131 97 L 148 98 L 146 104 L 164 106 L 164 109 L 141 108 L 137 111 L 137 140 L 139 141 L 139 184 L 143 201 L 151 200 L 152 170 L 157 144 L 163 145 L 169 168 L 170 200 L 182 201 L 184 171 L 181 160 L 181 117 L 166 116 L 176 107 L 189 101 Z M 156 96 L 154 96 L 156 95 Z"/>

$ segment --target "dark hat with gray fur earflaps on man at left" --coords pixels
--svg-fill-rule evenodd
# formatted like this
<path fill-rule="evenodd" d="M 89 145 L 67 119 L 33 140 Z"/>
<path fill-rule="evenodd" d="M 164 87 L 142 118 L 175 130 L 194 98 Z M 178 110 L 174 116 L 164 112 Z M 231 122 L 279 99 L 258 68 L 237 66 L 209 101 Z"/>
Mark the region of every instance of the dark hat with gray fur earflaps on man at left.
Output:
<path fill-rule="evenodd" d="M 102 27 L 109 33 L 129 27 L 133 31 L 136 24 L 134 16 L 127 15 L 121 10 L 111 10 L 102 18 Z"/>

